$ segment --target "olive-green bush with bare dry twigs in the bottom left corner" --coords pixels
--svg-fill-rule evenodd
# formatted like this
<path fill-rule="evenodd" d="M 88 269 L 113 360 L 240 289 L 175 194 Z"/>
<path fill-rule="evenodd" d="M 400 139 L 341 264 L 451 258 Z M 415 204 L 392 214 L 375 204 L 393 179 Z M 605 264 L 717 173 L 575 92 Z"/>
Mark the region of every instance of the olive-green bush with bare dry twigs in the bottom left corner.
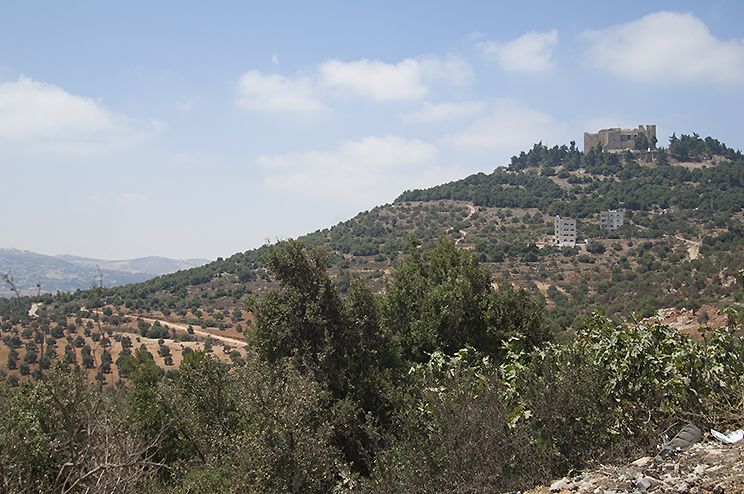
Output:
<path fill-rule="evenodd" d="M 151 485 L 159 465 L 146 454 L 138 424 L 118 395 L 91 387 L 80 368 L 56 365 L 35 383 L 0 387 L 0 395 L 6 492 L 131 492 Z"/>

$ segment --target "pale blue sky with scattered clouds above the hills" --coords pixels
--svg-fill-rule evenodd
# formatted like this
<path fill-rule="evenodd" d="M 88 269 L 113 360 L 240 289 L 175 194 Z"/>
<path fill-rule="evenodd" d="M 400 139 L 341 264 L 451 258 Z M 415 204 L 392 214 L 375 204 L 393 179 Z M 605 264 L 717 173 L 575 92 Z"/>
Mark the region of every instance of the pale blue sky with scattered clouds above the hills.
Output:
<path fill-rule="evenodd" d="M 0 248 L 229 257 L 536 142 L 744 147 L 744 2 L 0 0 Z"/>

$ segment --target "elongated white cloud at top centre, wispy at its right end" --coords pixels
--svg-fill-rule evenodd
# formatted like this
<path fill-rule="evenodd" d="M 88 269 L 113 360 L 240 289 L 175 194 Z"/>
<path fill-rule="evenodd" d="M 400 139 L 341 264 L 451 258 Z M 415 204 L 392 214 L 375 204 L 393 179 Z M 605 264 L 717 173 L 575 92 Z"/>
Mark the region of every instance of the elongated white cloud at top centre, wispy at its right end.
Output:
<path fill-rule="evenodd" d="M 318 74 L 320 86 L 342 95 L 390 101 L 423 98 L 429 94 L 426 82 L 434 79 L 462 84 L 472 69 L 458 57 L 408 58 L 397 64 L 363 58 L 348 63 L 329 60 L 318 66 Z"/>

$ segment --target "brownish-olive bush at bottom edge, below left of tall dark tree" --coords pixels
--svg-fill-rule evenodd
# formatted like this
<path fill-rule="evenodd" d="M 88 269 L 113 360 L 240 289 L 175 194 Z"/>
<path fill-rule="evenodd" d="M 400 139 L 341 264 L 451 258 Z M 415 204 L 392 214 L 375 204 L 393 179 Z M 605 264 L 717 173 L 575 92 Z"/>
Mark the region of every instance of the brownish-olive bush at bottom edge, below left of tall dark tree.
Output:
<path fill-rule="evenodd" d="M 178 492 L 330 492 L 348 467 L 331 444 L 323 387 L 287 361 L 235 374 L 219 365 L 202 355 L 182 366 L 181 421 L 200 458 L 179 466 Z"/>

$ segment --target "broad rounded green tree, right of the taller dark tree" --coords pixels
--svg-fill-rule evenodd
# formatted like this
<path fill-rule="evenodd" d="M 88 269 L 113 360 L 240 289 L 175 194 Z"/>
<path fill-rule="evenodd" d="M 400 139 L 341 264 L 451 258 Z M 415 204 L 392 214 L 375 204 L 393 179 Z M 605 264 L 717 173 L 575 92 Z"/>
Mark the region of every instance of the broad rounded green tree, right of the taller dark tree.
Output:
<path fill-rule="evenodd" d="M 408 250 L 382 312 L 405 359 L 425 362 L 436 350 L 452 355 L 468 345 L 496 355 L 511 336 L 527 347 L 549 338 L 542 308 L 524 290 L 515 292 L 508 284 L 495 290 L 476 253 L 458 250 L 444 238 L 423 253 L 412 239 Z"/>

